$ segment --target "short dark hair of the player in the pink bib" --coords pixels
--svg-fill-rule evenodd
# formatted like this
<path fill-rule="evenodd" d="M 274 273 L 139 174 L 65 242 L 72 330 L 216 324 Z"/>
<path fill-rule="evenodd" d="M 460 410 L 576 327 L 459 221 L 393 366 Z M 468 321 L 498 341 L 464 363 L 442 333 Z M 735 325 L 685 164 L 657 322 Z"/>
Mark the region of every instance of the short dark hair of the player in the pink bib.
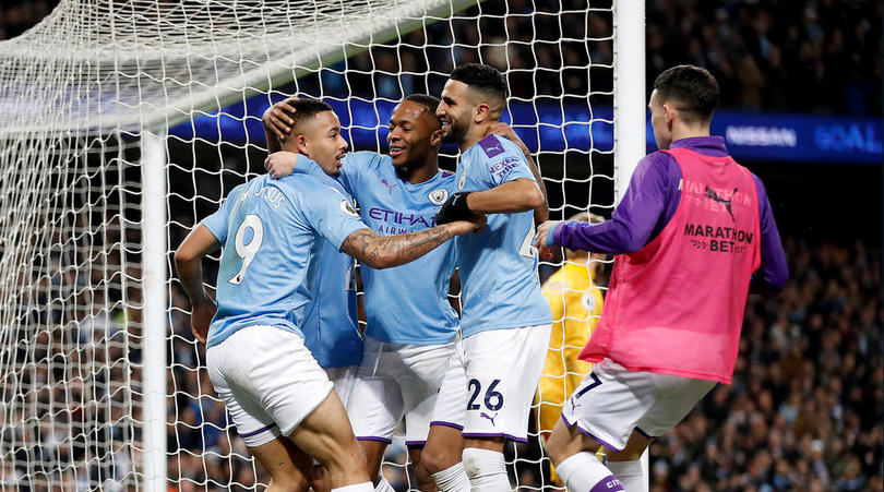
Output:
<path fill-rule="evenodd" d="M 678 65 L 665 70 L 654 81 L 661 101 L 672 100 L 685 119 L 708 121 L 718 106 L 718 82 L 708 70 L 694 65 Z"/>

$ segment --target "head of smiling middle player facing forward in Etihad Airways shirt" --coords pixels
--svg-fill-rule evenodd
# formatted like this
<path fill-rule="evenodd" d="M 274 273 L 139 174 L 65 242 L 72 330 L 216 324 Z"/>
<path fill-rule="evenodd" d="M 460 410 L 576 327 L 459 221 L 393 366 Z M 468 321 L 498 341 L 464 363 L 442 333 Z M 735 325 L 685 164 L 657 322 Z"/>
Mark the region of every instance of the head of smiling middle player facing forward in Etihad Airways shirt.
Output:
<path fill-rule="evenodd" d="M 421 166 L 428 160 L 433 147 L 441 143 L 439 120 L 426 106 L 404 100 L 393 108 L 390 116 L 386 143 L 393 166 Z"/>

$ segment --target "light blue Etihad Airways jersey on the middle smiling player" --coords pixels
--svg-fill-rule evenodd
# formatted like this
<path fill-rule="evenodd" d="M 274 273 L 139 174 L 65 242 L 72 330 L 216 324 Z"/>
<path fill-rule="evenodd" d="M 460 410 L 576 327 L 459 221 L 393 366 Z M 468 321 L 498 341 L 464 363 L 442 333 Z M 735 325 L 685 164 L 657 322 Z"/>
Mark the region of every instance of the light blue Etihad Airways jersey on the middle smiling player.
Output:
<path fill-rule="evenodd" d="M 416 232 L 435 226 L 435 214 L 454 192 L 454 175 L 440 171 L 411 184 L 399 178 L 390 156 L 355 152 L 343 160 L 339 181 L 359 203 L 362 220 L 381 236 Z M 444 344 L 457 333 L 457 313 L 447 300 L 457 266 L 449 241 L 402 266 L 362 265 L 366 334 L 393 344 Z"/>

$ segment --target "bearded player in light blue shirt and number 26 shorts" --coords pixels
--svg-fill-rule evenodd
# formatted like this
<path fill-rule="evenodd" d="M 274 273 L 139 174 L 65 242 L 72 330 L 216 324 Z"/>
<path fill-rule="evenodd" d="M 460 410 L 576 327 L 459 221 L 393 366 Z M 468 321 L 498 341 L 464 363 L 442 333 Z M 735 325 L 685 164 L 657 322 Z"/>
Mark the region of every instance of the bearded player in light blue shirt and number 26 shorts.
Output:
<path fill-rule="evenodd" d="M 462 152 L 458 192 L 442 205 L 437 224 L 493 214 L 481 232 L 455 241 L 464 369 L 446 379 L 439 396 L 461 407 L 463 461 L 474 491 L 511 489 L 503 446 L 507 439 L 526 441 L 552 323 L 533 243 L 533 211 L 547 213 L 543 193 L 522 149 L 488 135 L 505 99 L 503 74 L 466 64 L 452 72 L 437 109 L 443 139 Z"/>

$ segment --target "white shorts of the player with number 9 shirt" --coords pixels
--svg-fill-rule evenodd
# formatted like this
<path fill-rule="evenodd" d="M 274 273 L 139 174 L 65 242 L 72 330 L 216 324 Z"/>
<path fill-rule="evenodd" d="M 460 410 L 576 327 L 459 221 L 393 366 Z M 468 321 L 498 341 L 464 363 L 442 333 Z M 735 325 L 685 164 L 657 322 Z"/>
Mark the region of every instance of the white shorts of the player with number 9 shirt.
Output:
<path fill-rule="evenodd" d="M 332 391 L 303 338 L 247 326 L 206 350 L 208 377 L 249 447 L 290 435 Z"/>

